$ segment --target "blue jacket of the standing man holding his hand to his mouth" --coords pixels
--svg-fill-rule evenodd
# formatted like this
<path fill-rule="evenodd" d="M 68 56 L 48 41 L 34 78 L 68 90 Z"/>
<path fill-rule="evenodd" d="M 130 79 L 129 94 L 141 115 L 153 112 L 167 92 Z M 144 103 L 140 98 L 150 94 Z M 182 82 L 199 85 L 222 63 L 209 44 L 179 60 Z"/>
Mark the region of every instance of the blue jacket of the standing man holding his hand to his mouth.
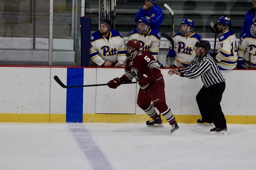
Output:
<path fill-rule="evenodd" d="M 141 19 L 142 17 L 150 17 L 150 28 L 152 30 L 157 30 L 157 32 L 159 33 L 159 27 L 164 20 L 164 13 L 162 8 L 158 7 L 155 4 L 151 7 L 150 15 L 148 15 L 148 10 L 143 10 L 142 8 L 140 8 L 139 12 L 135 16 L 135 23 L 138 23 L 139 19 Z"/>

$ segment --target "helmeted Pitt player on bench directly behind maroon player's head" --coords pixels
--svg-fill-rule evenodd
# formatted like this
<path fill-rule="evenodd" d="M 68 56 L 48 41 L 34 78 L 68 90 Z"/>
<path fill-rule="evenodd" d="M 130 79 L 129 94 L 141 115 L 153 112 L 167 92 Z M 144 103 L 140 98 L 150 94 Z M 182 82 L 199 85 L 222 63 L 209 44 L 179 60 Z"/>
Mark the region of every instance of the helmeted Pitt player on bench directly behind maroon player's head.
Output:
<path fill-rule="evenodd" d="M 141 46 L 140 51 L 148 51 L 157 60 L 160 47 L 160 34 L 157 30 L 150 29 L 150 17 L 142 17 L 137 23 L 137 28 L 132 30 L 129 40 L 137 39 Z"/>

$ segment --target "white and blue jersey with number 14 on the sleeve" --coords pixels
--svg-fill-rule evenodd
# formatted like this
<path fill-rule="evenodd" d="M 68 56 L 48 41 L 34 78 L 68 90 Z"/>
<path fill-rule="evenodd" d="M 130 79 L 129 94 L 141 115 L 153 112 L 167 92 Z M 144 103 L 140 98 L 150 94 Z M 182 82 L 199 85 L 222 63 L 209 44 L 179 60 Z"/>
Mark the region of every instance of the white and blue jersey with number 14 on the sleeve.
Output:
<path fill-rule="evenodd" d="M 233 70 L 237 66 L 237 38 L 232 30 L 226 30 L 218 41 L 217 65 L 223 70 Z"/>

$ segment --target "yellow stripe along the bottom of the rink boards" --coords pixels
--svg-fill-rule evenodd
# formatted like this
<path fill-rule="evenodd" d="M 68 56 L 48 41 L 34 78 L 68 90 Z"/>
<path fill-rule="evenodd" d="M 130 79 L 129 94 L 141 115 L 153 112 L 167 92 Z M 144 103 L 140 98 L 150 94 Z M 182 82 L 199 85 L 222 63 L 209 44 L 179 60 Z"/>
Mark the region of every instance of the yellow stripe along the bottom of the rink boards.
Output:
<path fill-rule="evenodd" d="M 201 115 L 174 115 L 178 123 L 196 124 Z M 167 123 L 161 115 L 163 123 Z M 227 124 L 256 124 L 256 116 L 225 116 Z M 146 123 L 150 118 L 135 114 L 83 114 L 83 123 Z M 0 122 L 65 123 L 66 114 L 0 114 Z"/>

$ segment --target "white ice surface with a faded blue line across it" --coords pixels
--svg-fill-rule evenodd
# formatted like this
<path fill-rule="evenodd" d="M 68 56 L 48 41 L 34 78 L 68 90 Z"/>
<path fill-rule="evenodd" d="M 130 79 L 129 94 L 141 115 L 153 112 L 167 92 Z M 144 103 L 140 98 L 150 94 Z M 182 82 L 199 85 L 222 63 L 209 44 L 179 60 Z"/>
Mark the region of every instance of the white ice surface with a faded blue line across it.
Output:
<path fill-rule="evenodd" d="M 0 123 L 1 170 L 255 169 L 256 125 Z"/>

